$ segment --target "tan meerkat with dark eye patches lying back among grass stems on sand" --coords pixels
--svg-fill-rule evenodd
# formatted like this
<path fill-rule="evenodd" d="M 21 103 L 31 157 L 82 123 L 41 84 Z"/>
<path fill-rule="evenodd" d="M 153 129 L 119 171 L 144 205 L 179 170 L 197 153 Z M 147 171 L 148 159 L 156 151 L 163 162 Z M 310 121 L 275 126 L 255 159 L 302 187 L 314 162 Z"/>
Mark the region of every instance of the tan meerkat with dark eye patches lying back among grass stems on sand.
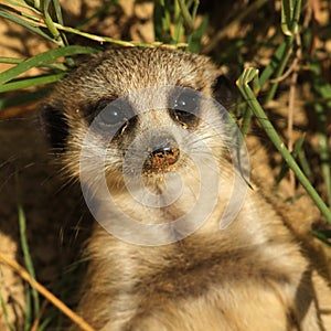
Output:
<path fill-rule="evenodd" d="M 331 330 L 327 282 L 247 188 L 218 83 L 201 55 L 115 49 L 43 105 L 98 221 L 77 308 L 96 330 Z"/>

